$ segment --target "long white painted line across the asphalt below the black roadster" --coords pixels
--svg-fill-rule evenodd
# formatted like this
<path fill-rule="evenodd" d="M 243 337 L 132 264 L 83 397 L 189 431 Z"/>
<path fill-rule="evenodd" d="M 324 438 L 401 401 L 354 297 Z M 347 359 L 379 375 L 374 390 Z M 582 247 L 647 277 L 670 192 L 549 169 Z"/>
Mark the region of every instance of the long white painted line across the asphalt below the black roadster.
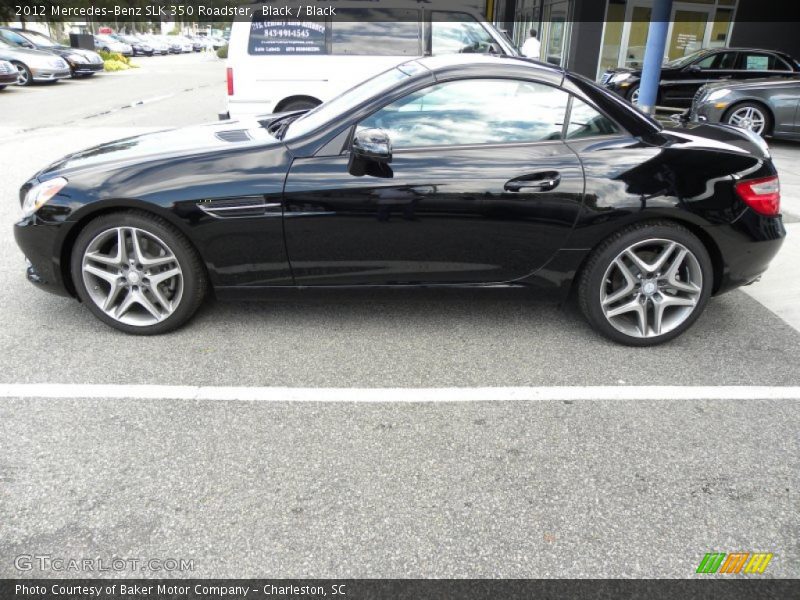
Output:
<path fill-rule="evenodd" d="M 479 402 L 546 400 L 800 400 L 800 386 L 552 386 L 289 388 L 60 383 L 0 384 L 0 398 L 255 402 Z"/>

